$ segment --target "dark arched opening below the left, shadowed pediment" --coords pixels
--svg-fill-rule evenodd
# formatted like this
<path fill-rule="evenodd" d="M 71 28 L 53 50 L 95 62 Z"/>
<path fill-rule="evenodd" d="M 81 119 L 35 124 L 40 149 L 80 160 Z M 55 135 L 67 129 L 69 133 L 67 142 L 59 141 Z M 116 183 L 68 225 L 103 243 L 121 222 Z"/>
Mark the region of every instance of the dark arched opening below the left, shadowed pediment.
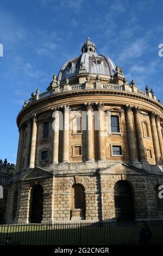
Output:
<path fill-rule="evenodd" d="M 31 191 L 31 211 L 30 211 L 30 222 L 41 223 L 42 211 L 43 211 L 43 189 L 41 185 L 36 185 Z"/>

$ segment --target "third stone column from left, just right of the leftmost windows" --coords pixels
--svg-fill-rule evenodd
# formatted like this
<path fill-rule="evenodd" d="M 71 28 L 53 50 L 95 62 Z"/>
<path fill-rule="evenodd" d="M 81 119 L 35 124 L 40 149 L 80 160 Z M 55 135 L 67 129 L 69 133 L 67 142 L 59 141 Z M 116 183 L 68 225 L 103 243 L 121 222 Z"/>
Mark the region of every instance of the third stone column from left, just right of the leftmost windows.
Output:
<path fill-rule="evenodd" d="M 52 163 L 53 164 L 58 164 L 58 151 L 59 151 L 59 111 L 58 108 L 54 109 L 53 112 L 53 158 L 52 158 Z"/>

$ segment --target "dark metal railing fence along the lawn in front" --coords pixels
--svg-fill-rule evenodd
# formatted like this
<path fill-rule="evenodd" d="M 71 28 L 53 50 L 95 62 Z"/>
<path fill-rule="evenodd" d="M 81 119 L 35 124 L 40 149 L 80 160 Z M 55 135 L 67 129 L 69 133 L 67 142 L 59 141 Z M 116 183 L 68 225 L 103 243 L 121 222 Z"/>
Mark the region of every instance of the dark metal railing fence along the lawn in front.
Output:
<path fill-rule="evenodd" d="M 163 221 L 148 221 L 153 242 L 163 240 Z M 136 245 L 142 222 L 0 225 L 0 245 Z"/>

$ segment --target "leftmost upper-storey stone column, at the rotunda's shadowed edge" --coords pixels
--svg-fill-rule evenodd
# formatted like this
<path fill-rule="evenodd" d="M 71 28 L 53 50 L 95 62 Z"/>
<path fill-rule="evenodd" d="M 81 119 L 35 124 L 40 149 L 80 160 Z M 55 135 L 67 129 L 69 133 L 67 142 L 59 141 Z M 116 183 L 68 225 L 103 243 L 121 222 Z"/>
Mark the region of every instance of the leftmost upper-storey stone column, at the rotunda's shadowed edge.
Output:
<path fill-rule="evenodd" d="M 21 126 L 19 129 L 19 140 L 18 140 L 18 149 L 17 149 L 17 159 L 16 159 L 16 173 L 21 172 L 22 170 L 22 159 L 23 159 L 23 142 L 24 142 L 24 127 Z"/>

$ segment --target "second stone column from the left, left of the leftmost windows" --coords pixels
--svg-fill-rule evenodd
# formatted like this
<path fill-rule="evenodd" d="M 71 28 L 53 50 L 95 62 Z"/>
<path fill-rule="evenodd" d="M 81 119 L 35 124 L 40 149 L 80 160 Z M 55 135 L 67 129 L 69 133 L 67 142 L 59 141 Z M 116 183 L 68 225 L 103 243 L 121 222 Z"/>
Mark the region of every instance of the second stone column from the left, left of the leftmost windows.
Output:
<path fill-rule="evenodd" d="M 33 120 L 33 125 L 32 125 L 32 138 L 31 138 L 31 144 L 30 144 L 29 168 L 35 167 L 36 136 L 37 136 L 36 115 L 33 116 L 32 120 Z"/>

